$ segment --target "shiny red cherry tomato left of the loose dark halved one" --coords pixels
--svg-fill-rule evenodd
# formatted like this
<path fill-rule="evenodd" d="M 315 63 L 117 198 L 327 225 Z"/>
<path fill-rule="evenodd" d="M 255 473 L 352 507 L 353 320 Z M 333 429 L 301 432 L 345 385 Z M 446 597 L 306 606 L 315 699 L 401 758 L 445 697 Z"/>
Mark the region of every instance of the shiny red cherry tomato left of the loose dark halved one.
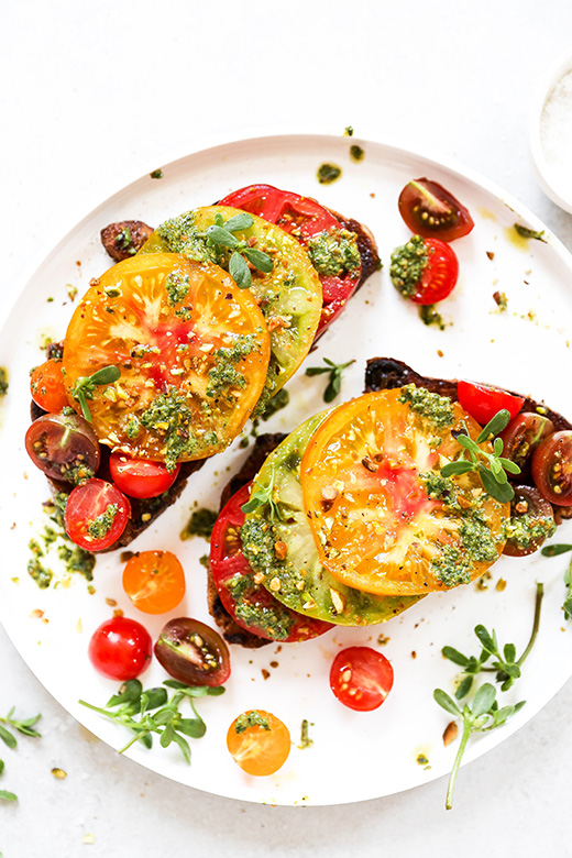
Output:
<path fill-rule="evenodd" d="M 125 682 L 135 679 L 148 667 L 153 641 L 148 631 L 135 619 L 113 617 L 96 629 L 89 641 L 92 666 L 105 676 Z"/>

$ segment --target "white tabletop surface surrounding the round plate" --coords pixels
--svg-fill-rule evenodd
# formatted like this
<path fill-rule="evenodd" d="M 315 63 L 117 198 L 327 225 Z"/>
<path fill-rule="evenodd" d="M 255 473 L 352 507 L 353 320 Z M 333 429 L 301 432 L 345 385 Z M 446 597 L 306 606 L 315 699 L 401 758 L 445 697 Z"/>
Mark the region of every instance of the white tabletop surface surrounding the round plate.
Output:
<path fill-rule="evenodd" d="M 572 249 L 572 217 L 538 188 L 526 141 L 535 88 L 572 50 L 570 32 L 568 0 L 4 4 L 1 307 L 36 248 L 102 194 L 211 135 L 253 129 L 338 134 L 352 124 L 363 136 L 454 156 L 524 200 Z M 43 732 L 18 751 L 2 747 L 1 787 L 20 795 L 0 805 L 4 858 L 570 854 L 570 683 L 463 769 L 452 813 L 443 780 L 302 811 L 206 795 L 119 758 L 64 713 L 1 630 L 0 664 L 0 712 L 13 703 L 41 712 Z M 67 778 L 56 780 L 53 767 Z"/>

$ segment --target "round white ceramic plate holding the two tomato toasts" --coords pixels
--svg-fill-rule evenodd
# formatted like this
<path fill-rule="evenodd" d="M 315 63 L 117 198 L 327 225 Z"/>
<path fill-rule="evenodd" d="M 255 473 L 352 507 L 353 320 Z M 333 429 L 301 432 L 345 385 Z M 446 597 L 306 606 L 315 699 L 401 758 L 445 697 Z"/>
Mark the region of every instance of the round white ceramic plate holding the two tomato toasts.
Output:
<path fill-rule="evenodd" d="M 350 144 L 365 150 L 361 163 L 349 157 Z M 339 164 L 342 177 L 320 186 L 316 170 L 324 162 Z M 515 241 L 515 221 L 534 229 L 542 224 L 520 204 L 466 170 L 443 166 L 422 156 L 380 143 L 330 136 L 276 136 L 230 143 L 198 152 L 163 167 L 164 178 L 144 176 L 123 188 L 79 222 L 50 253 L 15 302 L 0 340 L 0 364 L 10 372 L 10 393 L 1 406 L 4 453 L 1 515 L 4 522 L 0 616 L 19 651 L 36 676 L 78 721 L 114 748 L 129 735 L 114 724 L 78 705 L 82 697 L 102 705 L 117 682 L 99 676 L 87 659 L 94 629 L 111 613 L 106 600 L 116 600 L 128 616 L 140 619 L 156 637 L 169 617 L 153 618 L 135 610 L 122 592 L 118 553 L 98 559 L 95 593 L 84 579 L 68 587 L 41 591 L 26 574 L 28 542 L 43 528 L 41 505 L 48 497 L 43 475 L 26 458 L 23 437 L 29 425 L 29 370 L 40 363 L 44 334 L 64 336 L 73 305 L 66 285 L 82 293 L 90 277 L 109 266 L 99 243 L 107 223 L 141 219 L 157 224 L 167 217 L 220 199 L 231 189 L 265 182 L 316 196 L 326 206 L 369 224 L 385 270 L 376 273 L 350 301 L 342 318 L 320 341 L 322 356 L 356 363 L 346 372 L 343 398 L 362 392 L 365 360 L 387 355 L 405 360 L 426 375 L 464 376 L 495 383 L 544 399 L 572 415 L 570 348 L 565 324 L 571 318 L 572 257 L 548 233 L 547 242 Z M 455 242 L 461 277 L 442 312 L 453 323 L 446 331 L 426 328 L 416 308 L 393 288 L 387 273 L 392 250 L 404 243 L 408 230 L 397 212 L 397 197 L 411 177 L 429 176 L 450 188 L 472 211 L 475 229 Z M 494 254 L 493 258 L 490 258 Z M 498 312 L 495 290 L 508 296 L 508 310 Z M 53 300 L 50 300 L 53 298 Z M 300 372 L 289 384 L 290 406 L 267 424 L 287 431 L 323 408 L 323 378 Z M 265 427 L 266 428 L 266 427 Z M 218 506 L 220 490 L 238 470 L 248 451 L 238 446 L 206 463 L 191 477 L 182 499 L 143 534 L 133 549 L 173 550 L 184 562 L 187 596 L 170 616 L 188 615 L 206 622 L 205 571 L 198 559 L 207 551 L 201 539 L 182 542 L 179 531 L 194 504 Z M 571 541 L 571 526 L 559 528 L 559 541 Z M 503 695 L 506 702 L 527 700 L 508 726 L 476 739 L 465 760 L 493 748 L 535 715 L 572 672 L 572 628 L 564 630 L 562 558 L 546 560 L 503 558 L 493 569 L 486 591 L 475 585 L 432 595 L 385 626 L 332 630 L 300 645 L 271 645 L 258 651 L 232 647 L 232 676 L 224 696 L 199 701 L 208 724 L 207 736 L 193 744 L 193 765 L 178 750 L 132 747 L 132 759 L 173 780 L 220 795 L 277 804 L 337 804 L 361 801 L 426 783 L 450 770 L 455 746 L 443 747 L 441 736 L 450 721 L 432 700 L 439 686 L 454 690 L 455 668 L 440 650 L 452 645 L 477 652 L 472 629 L 476 623 L 494 626 L 503 642 L 521 651 L 532 623 L 535 581 L 542 580 L 546 598 L 538 642 L 522 679 Z M 505 580 L 501 592 L 495 585 Z M 44 612 L 43 618 L 32 615 Z M 378 647 L 395 670 L 395 685 L 386 703 L 372 713 L 352 712 L 336 701 L 328 685 L 329 668 L 341 647 Z M 276 663 L 277 667 L 271 667 Z M 549 666 L 549 667 L 547 667 Z M 262 670 L 270 671 L 263 679 Z M 143 675 L 145 684 L 165 674 L 157 663 Z M 289 727 L 293 749 L 275 776 L 255 779 L 230 758 L 226 734 L 231 721 L 249 708 L 275 713 Z M 311 748 L 300 749 L 301 721 L 310 722 Z M 417 762 L 422 754 L 429 760 Z"/>

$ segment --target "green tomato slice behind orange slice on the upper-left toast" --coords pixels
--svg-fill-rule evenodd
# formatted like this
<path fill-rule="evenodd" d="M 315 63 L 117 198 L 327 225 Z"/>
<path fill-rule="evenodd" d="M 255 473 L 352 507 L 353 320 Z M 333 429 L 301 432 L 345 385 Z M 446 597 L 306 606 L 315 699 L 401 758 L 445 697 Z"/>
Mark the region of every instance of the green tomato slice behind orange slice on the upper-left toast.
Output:
<path fill-rule="evenodd" d="M 207 240 L 207 229 L 216 226 L 216 216 L 223 224 L 244 212 L 230 206 L 207 206 L 172 218 L 158 227 L 140 253 L 168 251 L 183 253 L 198 262 L 213 262 L 229 270 L 232 250 L 213 246 Z M 266 385 L 255 414 L 264 410 L 268 399 L 292 378 L 308 354 L 322 308 L 322 290 L 318 273 L 301 244 L 274 223 L 252 215 L 253 224 L 233 232 L 239 241 L 248 241 L 256 250 L 272 256 L 270 274 L 252 272 L 249 287 L 266 319 L 271 337 L 271 361 Z"/>

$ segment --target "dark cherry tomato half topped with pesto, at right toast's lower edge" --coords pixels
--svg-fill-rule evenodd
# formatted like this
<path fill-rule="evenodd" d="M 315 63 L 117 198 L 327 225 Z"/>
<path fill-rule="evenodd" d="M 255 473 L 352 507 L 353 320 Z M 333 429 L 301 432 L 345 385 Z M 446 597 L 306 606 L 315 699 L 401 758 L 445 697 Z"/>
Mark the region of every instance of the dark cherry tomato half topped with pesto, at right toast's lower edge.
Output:
<path fill-rule="evenodd" d="M 556 530 L 552 506 L 538 488 L 529 485 L 514 486 L 510 501 L 510 521 L 505 532 L 508 537 L 503 549 L 509 557 L 524 557 L 536 551 Z"/>

